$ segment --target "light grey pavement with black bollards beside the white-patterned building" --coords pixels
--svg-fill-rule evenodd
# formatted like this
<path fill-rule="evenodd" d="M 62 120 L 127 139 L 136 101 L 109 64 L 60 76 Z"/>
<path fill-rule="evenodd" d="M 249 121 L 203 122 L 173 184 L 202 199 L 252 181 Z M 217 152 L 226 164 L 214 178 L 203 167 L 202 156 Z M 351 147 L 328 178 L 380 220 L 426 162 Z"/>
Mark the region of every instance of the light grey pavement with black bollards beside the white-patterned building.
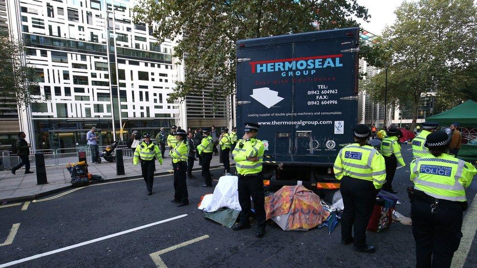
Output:
<path fill-rule="evenodd" d="M 169 153 L 165 153 L 163 165 L 156 161 L 156 175 L 169 174 L 173 169 Z M 75 160 L 71 160 L 74 162 Z M 77 161 L 77 160 L 76 160 Z M 89 159 L 88 159 L 89 161 Z M 231 165 L 235 163 L 231 160 Z M 219 157 L 212 158 L 211 166 L 221 166 Z M 195 169 L 200 169 L 198 161 L 194 163 Z M 32 165 L 32 171 L 35 166 Z M 88 164 L 88 171 L 93 175 L 100 175 L 106 181 L 125 180 L 141 177 L 141 166 L 132 165 L 132 158 L 124 158 L 125 175 L 117 175 L 116 163 L 109 163 L 105 160 L 101 164 Z M 24 169 L 19 169 L 16 175 L 11 171 L 0 171 L 0 205 L 4 202 L 15 202 L 22 200 L 32 200 L 44 195 L 52 194 L 61 190 L 72 188 L 71 176 L 65 165 L 46 167 L 47 184 L 38 185 L 36 173 L 24 174 Z"/>

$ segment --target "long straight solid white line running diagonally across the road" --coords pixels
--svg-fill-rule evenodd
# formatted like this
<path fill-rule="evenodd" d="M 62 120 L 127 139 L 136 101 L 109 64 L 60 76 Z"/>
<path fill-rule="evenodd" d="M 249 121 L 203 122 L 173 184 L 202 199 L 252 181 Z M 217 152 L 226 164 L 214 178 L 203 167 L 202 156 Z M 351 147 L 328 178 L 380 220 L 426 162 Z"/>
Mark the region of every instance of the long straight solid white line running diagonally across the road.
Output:
<path fill-rule="evenodd" d="M 72 248 L 82 247 L 82 246 L 92 244 L 92 243 L 95 243 L 95 242 L 98 242 L 98 241 L 106 240 L 106 239 L 109 239 L 109 238 L 112 238 L 112 237 L 120 236 L 120 235 L 127 234 L 127 233 L 130 233 L 130 232 L 133 232 L 133 231 L 137 231 L 137 230 L 144 229 L 144 228 L 147 228 L 147 227 L 152 227 L 154 225 L 158 225 L 158 224 L 173 221 L 173 220 L 176 220 L 176 219 L 179 219 L 179 218 L 183 218 L 185 216 L 187 216 L 187 214 L 182 214 L 182 215 L 179 215 L 179 216 L 175 216 L 173 218 L 169 218 L 169 219 L 162 220 L 162 221 L 159 221 L 159 222 L 155 222 L 155 223 L 152 223 L 152 224 L 147 224 L 147 225 L 143 225 L 143 226 L 140 226 L 140 227 L 135 227 L 135 228 L 125 230 L 125 231 L 122 231 L 122 232 L 113 233 L 113 234 L 110 234 L 110 235 L 107 235 L 107 236 L 103 236 L 103 237 L 100 237 L 100 238 L 89 240 L 89 241 L 79 243 L 79 244 L 76 244 L 76 245 L 71 245 L 71 246 L 68 246 L 68 247 L 62 247 L 62 248 L 55 249 L 55 250 L 52 250 L 52 251 L 48 251 L 48 252 L 45 252 L 45 253 L 33 255 L 31 257 L 23 258 L 23 259 L 20 259 L 20 260 L 17 260 L 17 261 L 4 263 L 4 264 L 0 265 L 0 268 L 9 267 L 9 266 L 12 266 L 12 265 L 24 263 L 24 262 L 31 261 L 31 260 L 34 260 L 34 259 L 38 259 L 38 258 L 41 258 L 41 257 L 44 257 L 44 256 L 52 255 L 52 254 L 55 254 L 55 253 L 58 253 L 58 252 L 63 252 L 63 251 L 66 251 L 66 250 L 69 250 L 69 249 L 72 249 Z"/>

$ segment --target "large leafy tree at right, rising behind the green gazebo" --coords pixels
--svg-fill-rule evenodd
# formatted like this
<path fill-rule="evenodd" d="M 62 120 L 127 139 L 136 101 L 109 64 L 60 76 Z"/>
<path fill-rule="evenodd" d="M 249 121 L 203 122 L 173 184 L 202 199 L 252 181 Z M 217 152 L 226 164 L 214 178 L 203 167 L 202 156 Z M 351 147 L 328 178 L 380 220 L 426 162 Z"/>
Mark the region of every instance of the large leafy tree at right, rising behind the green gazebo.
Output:
<path fill-rule="evenodd" d="M 421 96 L 475 96 L 476 11 L 473 0 L 403 2 L 396 22 L 377 39 L 375 65 L 388 69 L 388 102 L 412 108 L 411 129 Z M 365 88 L 372 99 L 384 102 L 385 72 Z"/>

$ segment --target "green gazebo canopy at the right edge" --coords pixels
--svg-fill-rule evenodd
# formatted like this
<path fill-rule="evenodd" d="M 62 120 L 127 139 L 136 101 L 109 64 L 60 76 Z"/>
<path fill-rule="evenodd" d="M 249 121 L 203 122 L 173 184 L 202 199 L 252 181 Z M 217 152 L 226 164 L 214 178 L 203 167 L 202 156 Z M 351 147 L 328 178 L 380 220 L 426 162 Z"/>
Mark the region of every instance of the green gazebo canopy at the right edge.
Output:
<path fill-rule="evenodd" d="M 458 123 L 463 127 L 477 127 L 477 102 L 468 100 L 450 110 L 428 117 L 426 121 L 437 122 L 441 126 Z"/>

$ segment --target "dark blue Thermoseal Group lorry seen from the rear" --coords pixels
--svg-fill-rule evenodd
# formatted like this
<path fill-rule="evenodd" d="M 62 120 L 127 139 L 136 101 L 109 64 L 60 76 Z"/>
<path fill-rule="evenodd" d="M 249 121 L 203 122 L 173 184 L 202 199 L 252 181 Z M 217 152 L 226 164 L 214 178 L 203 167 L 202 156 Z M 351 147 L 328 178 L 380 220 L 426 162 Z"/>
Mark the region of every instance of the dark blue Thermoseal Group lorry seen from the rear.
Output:
<path fill-rule="evenodd" d="M 357 121 L 359 28 L 237 42 L 237 126 L 260 124 L 272 185 L 334 189 Z M 239 137 L 240 138 L 240 137 Z"/>

